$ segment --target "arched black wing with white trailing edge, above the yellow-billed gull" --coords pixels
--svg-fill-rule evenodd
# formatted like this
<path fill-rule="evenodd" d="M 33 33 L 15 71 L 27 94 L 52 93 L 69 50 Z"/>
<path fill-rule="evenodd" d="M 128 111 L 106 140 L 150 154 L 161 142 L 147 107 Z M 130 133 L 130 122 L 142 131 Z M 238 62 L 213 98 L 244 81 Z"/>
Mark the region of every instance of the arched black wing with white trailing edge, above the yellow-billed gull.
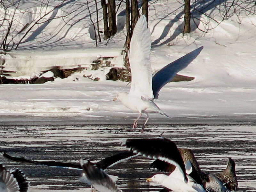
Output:
<path fill-rule="evenodd" d="M 158 159 L 178 168 L 184 181 L 188 181 L 186 168 L 176 144 L 166 138 L 128 139 L 123 145 L 149 159 Z"/>

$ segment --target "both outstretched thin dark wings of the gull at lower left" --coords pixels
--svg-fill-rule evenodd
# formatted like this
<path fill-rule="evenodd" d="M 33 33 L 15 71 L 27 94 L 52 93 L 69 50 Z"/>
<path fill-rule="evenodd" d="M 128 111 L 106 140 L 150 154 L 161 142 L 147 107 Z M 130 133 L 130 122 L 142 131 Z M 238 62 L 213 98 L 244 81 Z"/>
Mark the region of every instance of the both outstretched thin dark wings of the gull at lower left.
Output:
<path fill-rule="evenodd" d="M 5 152 L 0 152 L 2 156 L 4 156 L 6 159 L 9 159 L 14 162 L 23 163 L 23 164 L 37 164 L 37 165 L 46 165 L 50 167 L 60 167 L 60 168 L 67 168 L 67 169 L 78 169 L 82 170 L 81 164 L 75 164 L 75 163 L 66 163 L 66 162 L 58 162 L 58 161 L 31 161 L 28 159 L 25 159 L 23 157 L 13 157 Z M 131 159 L 132 157 L 136 156 L 136 154 L 132 153 L 131 151 L 125 151 L 120 152 L 116 155 L 109 156 L 101 161 L 99 161 L 97 164 L 98 167 L 105 170 L 108 167 L 111 167 L 117 163 L 126 161 Z"/>

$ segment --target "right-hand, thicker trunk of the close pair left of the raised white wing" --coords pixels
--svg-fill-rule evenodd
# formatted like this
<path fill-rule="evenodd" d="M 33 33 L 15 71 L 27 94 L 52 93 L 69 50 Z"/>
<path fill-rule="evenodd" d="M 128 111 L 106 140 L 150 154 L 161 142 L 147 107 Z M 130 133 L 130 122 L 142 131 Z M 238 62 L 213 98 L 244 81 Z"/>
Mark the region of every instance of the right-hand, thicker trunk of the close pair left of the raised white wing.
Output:
<path fill-rule="evenodd" d="M 108 24 L 110 36 L 116 34 L 116 2 L 108 0 Z"/>

